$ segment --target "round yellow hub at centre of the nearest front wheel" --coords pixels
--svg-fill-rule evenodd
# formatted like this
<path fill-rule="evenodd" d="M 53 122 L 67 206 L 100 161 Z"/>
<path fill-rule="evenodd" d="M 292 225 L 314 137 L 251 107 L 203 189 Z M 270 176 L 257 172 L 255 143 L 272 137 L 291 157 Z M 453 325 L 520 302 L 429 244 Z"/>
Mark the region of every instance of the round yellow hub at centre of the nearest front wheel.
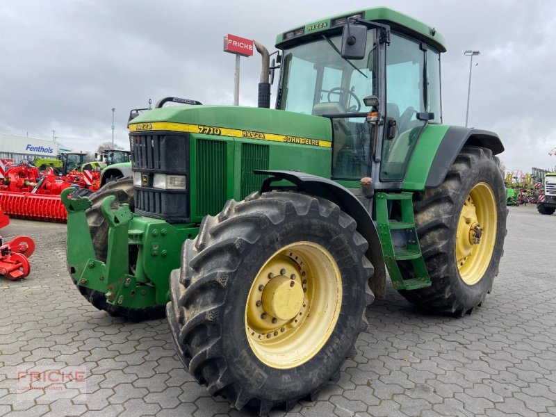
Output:
<path fill-rule="evenodd" d="M 263 290 L 263 310 L 279 320 L 291 320 L 303 305 L 303 288 L 292 276 L 274 277 Z"/>

